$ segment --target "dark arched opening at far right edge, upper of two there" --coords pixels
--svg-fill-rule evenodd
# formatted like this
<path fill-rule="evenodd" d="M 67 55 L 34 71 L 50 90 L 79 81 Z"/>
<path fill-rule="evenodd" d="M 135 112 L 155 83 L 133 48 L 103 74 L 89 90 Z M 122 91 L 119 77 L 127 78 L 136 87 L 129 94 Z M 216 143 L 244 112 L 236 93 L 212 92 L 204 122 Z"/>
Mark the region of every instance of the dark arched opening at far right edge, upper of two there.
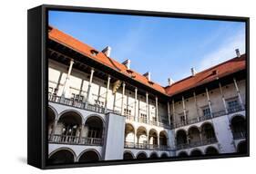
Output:
<path fill-rule="evenodd" d="M 245 138 L 245 132 L 246 132 L 245 119 L 240 115 L 233 117 L 231 120 L 231 130 L 233 133 L 234 140 Z"/>

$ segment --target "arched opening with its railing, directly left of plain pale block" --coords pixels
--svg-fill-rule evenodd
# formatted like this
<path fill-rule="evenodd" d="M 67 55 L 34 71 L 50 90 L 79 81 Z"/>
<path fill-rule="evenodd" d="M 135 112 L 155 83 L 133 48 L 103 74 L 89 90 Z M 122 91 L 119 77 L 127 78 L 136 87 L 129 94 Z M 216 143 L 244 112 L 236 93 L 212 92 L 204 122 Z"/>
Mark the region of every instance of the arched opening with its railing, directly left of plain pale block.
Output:
<path fill-rule="evenodd" d="M 87 118 L 87 121 L 85 123 L 85 131 L 83 134 L 86 136 L 82 140 L 86 144 L 91 145 L 101 145 L 102 144 L 102 135 L 103 135 L 103 121 L 101 118 L 97 116 L 91 116 Z"/>

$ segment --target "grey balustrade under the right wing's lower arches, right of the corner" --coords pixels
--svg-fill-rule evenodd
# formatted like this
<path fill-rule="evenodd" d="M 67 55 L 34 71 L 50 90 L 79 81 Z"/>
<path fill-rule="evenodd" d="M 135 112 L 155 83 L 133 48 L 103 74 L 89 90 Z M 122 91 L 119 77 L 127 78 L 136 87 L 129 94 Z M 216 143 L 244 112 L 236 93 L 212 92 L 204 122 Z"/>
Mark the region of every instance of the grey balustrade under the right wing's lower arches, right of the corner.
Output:
<path fill-rule="evenodd" d="M 218 142 L 216 138 L 210 138 L 210 139 L 205 139 L 205 140 L 189 142 L 188 144 L 187 143 L 177 144 L 176 149 L 177 150 L 184 150 L 184 149 L 189 149 L 189 148 L 214 144 L 216 142 Z"/>

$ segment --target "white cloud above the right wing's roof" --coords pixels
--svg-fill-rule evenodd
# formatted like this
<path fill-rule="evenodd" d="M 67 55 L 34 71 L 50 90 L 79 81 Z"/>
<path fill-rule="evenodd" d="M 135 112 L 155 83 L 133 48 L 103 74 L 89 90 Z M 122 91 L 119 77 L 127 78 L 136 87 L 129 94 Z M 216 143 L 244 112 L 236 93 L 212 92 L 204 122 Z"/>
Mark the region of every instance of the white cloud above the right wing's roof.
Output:
<path fill-rule="evenodd" d="M 215 51 L 203 56 L 197 70 L 203 71 L 211 66 L 225 62 L 236 56 L 235 49 L 245 53 L 245 30 L 241 29 L 237 34 L 232 35 L 225 42 L 221 43 Z"/>

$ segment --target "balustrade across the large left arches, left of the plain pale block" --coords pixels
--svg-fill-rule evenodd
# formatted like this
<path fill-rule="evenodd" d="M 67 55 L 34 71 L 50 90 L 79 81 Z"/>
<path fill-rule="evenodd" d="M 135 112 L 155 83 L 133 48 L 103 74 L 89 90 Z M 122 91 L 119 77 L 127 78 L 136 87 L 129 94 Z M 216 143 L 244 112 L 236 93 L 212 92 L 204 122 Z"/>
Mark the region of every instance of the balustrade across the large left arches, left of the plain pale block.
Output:
<path fill-rule="evenodd" d="M 77 137 L 71 135 L 48 135 L 48 142 L 57 144 L 76 144 L 88 146 L 102 146 L 103 140 L 99 138 Z"/>

